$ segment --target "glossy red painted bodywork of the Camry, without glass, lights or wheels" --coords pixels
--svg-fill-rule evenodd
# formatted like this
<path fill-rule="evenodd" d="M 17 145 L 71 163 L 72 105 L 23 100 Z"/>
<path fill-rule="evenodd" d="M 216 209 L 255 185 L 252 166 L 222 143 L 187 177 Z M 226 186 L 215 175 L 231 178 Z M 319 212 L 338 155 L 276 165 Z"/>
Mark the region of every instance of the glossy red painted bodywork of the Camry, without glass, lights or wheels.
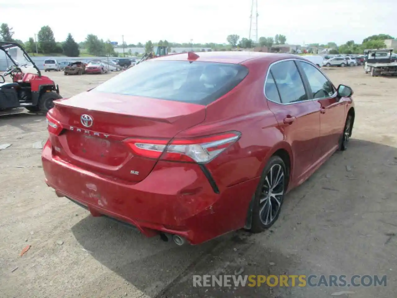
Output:
<path fill-rule="evenodd" d="M 249 68 L 237 87 L 207 106 L 98 92 L 56 102 L 49 114 L 63 130 L 50 134 L 42 152 L 46 183 L 59 195 L 86 205 L 93 215 L 131 223 L 147 236 L 163 231 L 198 244 L 243 228 L 268 159 L 285 151 L 291 161 L 288 190 L 301 184 L 337 149 L 353 106 L 346 98 L 288 106 L 268 101 L 263 87 L 269 64 L 292 57 L 296 58 L 199 53 L 197 61 L 242 63 Z M 186 60 L 187 54 L 158 59 Z M 92 116 L 92 127 L 81 125 L 82 114 Z M 288 116 L 295 119 L 285 124 Z M 123 142 L 150 138 L 168 143 L 229 131 L 240 132 L 241 137 L 205 164 L 219 194 L 197 163 L 139 157 Z"/>

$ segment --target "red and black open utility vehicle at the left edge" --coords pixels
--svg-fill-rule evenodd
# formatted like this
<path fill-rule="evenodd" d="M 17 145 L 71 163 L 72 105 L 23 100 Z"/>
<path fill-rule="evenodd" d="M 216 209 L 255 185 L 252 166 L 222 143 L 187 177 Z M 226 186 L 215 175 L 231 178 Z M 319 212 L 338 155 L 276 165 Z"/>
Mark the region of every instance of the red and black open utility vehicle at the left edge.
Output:
<path fill-rule="evenodd" d="M 35 62 L 18 43 L 0 42 L 0 50 L 6 54 L 7 70 L 0 75 L 0 110 L 25 107 L 31 112 L 46 113 L 61 99 L 58 85 L 41 75 Z M 6 82 L 10 75 L 12 82 Z"/>

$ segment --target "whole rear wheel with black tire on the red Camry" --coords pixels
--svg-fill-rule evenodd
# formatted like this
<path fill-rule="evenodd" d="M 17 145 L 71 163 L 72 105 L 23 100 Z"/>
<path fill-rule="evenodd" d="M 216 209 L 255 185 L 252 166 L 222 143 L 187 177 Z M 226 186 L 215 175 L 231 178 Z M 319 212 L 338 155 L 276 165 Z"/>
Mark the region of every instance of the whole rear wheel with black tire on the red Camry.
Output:
<path fill-rule="evenodd" d="M 274 183 L 269 181 L 269 175 L 270 172 L 273 171 L 272 176 L 274 177 L 274 174 L 277 175 L 278 169 L 282 170 L 282 177 L 280 178 L 280 183 L 277 184 L 276 187 L 272 187 Z M 268 179 L 266 180 L 266 178 Z M 274 180 L 277 180 L 276 177 L 274 177 Z M 269 196 L 269 193 L 272 194 L 272 190 L 276 190 L 276 193 L 282 192 L 282 194 L 277 195 L 277 197 L 272 195 Z M 256 188 L 254 194 L 250 229 L 252 233 L 263 232 L 264 230 L 270 228 L 277 221 L 284 201 L 285 190 L 287 190 L 287 168 L 284 161 L 280 157 L 272 156 L 262 172 L 262 177 L 260 178 L 258 187 Z M 277 210 L 273 210 L 273 204 L 274 207 L 277 207 Z M 272 212 L 274 212 L 274 214 L 270 213 L 270 219 L 269 213 L 266 212 L 266 210 L 270 209 L 266 208 L 266 206 L 270 206 L 272 208 Z M 272 217 L 272 215 L 274 216 Z"/>

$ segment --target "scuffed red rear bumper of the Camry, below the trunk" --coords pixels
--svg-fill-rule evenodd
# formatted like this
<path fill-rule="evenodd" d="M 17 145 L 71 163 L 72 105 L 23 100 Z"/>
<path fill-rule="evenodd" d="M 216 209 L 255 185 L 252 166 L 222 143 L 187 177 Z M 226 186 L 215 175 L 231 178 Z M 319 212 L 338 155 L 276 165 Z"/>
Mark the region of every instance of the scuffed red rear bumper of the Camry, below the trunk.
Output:
<path fill-rule="evenodd" d="M 159 161 L 144 180 L 131 183 L 65 163 L 52 155 L 50 141 L 42 164 L 46 184 L 93 216 L 131 224 L 146 236 L 177 234 L 191 244 L 243 228 L 259 179 L 220 187 L 216 194 L 197 164 Z"/>

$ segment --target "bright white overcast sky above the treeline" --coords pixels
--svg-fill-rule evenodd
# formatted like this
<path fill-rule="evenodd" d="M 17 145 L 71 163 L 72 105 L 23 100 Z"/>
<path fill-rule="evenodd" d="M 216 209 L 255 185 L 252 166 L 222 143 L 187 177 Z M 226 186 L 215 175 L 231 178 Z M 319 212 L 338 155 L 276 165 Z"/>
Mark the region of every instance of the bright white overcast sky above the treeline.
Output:
<path fill-rule="evenodd" d="M 71 33 L 77 42 L 94 34 L 119 43 L 124 35 L 127 44 L 227 43 L 229 34 L 249 37 L 251 1 L 0 0 L 0 23 L 8 23 L 14 39 L 22 41 L 48 25 L 56 41 Z M 283 34 L 291 45 L 340 45 L 380 33 L 397 37 L 397 0 L 257 1 L 258 38 Z"/>

